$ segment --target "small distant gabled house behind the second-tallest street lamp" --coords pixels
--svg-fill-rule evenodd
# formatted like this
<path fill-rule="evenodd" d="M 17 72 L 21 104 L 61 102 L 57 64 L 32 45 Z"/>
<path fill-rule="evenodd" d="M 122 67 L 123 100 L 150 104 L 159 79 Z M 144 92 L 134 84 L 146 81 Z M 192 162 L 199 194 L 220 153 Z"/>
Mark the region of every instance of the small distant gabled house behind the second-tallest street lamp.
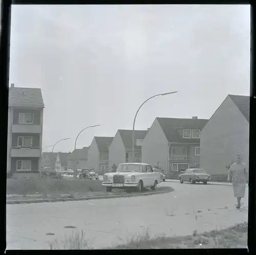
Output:
<path fill-rule="evenodd" d="M 90 147 L 90 146 L 89 146 Z M 89 147 L 83 147 L 82 149 L 75 149 L 68 156 L 68 169 L 77 169 L 88 168 L 88 150 Z M 77 160 L 77 166 L 76 166 Z"/>

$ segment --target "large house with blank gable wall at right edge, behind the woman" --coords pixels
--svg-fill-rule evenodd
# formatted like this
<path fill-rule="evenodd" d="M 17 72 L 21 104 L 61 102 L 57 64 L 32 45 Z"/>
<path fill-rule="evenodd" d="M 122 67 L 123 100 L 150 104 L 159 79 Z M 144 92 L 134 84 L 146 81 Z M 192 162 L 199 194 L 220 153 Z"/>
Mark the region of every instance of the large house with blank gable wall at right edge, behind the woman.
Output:
<path fill-rule="evenodd" d="M 249 96 L 228 95 L 201 131 L 200 165 L 210 174 L 227 174 L 226 166 L 249 162 Z"/>

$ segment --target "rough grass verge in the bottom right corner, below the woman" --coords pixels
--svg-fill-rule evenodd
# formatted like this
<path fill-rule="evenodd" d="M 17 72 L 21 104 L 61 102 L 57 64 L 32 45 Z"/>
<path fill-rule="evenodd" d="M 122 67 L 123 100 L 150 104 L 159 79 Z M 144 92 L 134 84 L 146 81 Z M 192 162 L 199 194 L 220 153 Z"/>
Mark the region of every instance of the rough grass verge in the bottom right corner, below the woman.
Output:
<path fill-rule="evenodd" d="M 124 244 L 108 249 L 172 249 L 172 248 L 247 248 L 248 224 L 212 230 L 198 234 L 195 230 L 185 237 L 151 237 L 148 231 L 144 235 L 135 235 L 124 240 Z"/>

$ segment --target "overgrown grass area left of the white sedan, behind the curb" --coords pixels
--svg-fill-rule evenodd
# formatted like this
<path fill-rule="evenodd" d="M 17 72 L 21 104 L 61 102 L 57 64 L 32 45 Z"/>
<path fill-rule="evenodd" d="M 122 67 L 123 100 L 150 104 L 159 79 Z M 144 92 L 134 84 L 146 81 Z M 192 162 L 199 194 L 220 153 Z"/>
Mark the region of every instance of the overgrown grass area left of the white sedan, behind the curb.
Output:
<path fill-rule="evenodd" d="M 86 179 L 46 179 L 31 177 L 27 179 L 7 179 L 7 195 L 59 195 L 104 192 L 100 180 Z"/>

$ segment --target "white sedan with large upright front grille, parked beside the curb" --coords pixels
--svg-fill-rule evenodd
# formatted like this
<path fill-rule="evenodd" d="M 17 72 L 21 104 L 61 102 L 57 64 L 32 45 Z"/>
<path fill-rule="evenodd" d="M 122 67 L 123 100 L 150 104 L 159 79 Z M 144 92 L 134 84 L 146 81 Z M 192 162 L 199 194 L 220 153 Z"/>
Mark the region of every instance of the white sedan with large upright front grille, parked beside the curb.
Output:
<path fill-rule="evenodd" d="M 113 188 L 137 188 L 141 192 L 146 187 L 156 190 L 160 181 L 160 173 L 154 172 L 149 164 L 123 163 L 115 173 L 104 174 L 101 185 L 105 186 L 108 192 Z"/>

